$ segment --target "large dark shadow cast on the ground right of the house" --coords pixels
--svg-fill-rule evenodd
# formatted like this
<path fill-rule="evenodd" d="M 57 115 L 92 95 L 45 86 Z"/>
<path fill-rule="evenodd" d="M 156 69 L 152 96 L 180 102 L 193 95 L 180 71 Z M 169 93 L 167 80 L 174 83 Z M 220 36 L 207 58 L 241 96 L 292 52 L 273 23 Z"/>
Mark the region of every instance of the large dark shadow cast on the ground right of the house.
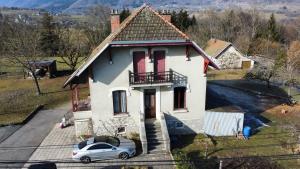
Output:
<path fill-rule="evenodd" d="M 245 112 L 244 126 L 258 128 L 270 123 L 262 113 L 287 103 L 285 90 L 248 80 L 214 80 L 207 85 L 206 110 L 231 112 L 238 107 Z"/>

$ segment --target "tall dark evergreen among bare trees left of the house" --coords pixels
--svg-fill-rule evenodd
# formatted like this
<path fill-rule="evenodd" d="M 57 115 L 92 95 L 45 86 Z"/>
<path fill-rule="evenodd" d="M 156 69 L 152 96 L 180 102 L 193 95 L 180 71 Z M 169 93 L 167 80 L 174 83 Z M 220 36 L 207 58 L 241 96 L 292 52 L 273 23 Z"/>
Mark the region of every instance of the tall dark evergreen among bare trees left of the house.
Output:
<path fill-rule="evenodd" d="M 45 56 L 55 56 L 59 49 L 59 36 L 56 33 L 53 17 L 45 13 L 42 18 L 40 48 Z"/>

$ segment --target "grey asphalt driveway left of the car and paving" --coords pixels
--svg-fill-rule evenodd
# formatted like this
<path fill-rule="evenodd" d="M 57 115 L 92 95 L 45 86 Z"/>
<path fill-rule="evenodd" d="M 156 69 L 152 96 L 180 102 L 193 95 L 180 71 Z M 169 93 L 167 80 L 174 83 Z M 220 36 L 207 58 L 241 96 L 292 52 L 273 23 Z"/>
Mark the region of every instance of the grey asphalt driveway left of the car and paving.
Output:
<path fill-rule="evenodd" d="M 41 110 L 27 124 L 0 143 L 0 168 L 21 168 L 54 124 L 60 121 L 67 107 Z"/>

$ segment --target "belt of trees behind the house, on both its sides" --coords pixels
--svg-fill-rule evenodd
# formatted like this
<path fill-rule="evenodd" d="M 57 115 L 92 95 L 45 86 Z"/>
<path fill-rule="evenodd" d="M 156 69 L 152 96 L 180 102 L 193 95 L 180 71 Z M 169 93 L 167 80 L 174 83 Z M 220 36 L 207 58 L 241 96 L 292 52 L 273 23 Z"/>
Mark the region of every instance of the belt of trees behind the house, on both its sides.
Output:
<path fill-rule="evenodd" d="M 274 14 L 265 18 L 256 10 L 207 10 L 197 17 L 191 16 L 186 10 L 172 11 L 170 14 L 171 22 L 203 48 L 209 39 L 217 38 L 233 43 L 247 55 L 261 55 L 276 60 L 273 66 L 262 69 L 263 72 L 270 72 L 265 79 L 274 77 L 279 67 L 285 65 L 287 68 L 288 49 L 295 50 L 291 44 L 293 42 L 297 46 L 294 41 L 299 40 L 300 36 L 300 18 L 281 24 L 276 21 Z M 37 25 L 15 23 L 0 13 L 0 57 L 8 58 L 33 74 L 35 70 L 28 68 L 28 61 L 59 57 L 61 62 L 74 71 L 110 33 L 109 9 L 95 6 L 89 10 L 88 15 L 89 24 L 68 27 L 58 24 L 47 12 Z M 120 13 L 121 21 L 129 15 L 130 11 L 123 9 Z"/>

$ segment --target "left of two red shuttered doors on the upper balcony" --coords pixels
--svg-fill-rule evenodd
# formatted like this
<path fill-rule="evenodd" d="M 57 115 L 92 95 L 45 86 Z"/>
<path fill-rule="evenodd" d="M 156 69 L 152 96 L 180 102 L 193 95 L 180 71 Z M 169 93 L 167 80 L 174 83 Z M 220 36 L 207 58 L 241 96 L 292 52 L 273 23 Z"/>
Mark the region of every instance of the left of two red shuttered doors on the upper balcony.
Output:
<path fill-rule="evenodd" d="M 143 81 L 145 79 L 145 52 L 133 52 L 133 71 L 135 73 L 135 81 Z"/>

